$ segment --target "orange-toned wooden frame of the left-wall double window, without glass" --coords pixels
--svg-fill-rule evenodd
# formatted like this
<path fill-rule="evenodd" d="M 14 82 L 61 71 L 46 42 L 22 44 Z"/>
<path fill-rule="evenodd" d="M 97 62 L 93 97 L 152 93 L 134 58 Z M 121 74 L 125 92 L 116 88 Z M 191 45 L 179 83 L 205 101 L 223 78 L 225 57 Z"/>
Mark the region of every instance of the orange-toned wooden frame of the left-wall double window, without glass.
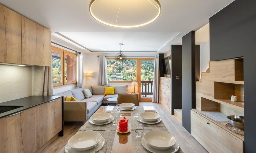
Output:
<path fill-rule="evenodd" d="M 77 82 L 77 54 L 76 53 L 72 53 L 69 52 L 65 49 L 61 49 L 58 48 L 56 46 L 51 46 L 51 53 L 55 52 L 55 53 L 60 53 L 61 54 L 61 82 L 60 83 L 53 83 L 53 87 L 61 87 L 61 86 L 65 86 L 65 85 L 70 85 L 70 84 L 76 84 Z M 71 82 L 65 82 L 65 78 L 64 78 L 64 71 L 65 71 L 65 55 L 69 55 L 69 56 L 73 56 L 75 57 L 75 64 L 76 64 L 76 71 L 75 71 L 75 75 L 76 75 L 76 80 L 75 81 L 71 81 Z"/>

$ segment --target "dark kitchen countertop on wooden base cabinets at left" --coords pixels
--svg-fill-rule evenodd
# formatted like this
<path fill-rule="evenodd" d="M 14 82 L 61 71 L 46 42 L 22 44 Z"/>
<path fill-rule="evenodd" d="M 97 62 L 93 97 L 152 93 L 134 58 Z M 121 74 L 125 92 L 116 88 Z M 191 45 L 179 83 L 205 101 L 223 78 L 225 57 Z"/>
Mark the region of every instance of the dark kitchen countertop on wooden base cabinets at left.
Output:
<path fill-rule="evenodd" d="M 47 103 L 52 100 L 56 100 L 60 97 L 63 97 L 63 96 L 29 96 L 29 97 L 24 97 L 24 98 L 0 103 L 0 106 L 23 106 L 23 107 L 13 109 L 11 111 L 0 113 L 0 118 L 18 113 L 20 111 L 24 111 L 28 108 L 35 107 L 37 105 Z"/>

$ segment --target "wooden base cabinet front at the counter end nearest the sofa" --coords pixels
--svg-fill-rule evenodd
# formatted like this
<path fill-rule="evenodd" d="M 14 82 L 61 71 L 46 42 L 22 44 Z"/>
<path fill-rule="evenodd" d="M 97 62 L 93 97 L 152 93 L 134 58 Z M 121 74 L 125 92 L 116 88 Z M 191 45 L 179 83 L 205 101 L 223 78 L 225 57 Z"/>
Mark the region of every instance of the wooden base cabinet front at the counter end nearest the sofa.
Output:
<path fill-rule="evenodd" d="M 36 149 L 62 130 L 62 98 L 36 106 Z"/>

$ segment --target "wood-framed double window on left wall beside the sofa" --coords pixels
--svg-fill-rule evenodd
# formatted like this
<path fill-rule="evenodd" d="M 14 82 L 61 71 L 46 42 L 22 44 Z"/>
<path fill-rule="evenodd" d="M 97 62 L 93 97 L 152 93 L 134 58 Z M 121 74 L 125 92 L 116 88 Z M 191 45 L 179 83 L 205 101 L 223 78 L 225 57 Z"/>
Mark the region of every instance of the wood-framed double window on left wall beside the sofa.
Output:
<path fill-rule="evenodd" d="M 77 55 L 52 46 L 53 86 L 76 83 Z"/>

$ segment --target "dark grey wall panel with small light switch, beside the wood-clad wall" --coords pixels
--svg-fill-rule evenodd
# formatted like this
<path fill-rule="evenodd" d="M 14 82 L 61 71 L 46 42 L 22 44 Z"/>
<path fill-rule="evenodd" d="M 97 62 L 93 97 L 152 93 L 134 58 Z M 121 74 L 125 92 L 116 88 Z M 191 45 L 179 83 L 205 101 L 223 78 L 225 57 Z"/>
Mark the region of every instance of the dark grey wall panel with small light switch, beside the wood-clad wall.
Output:
<path fill-rule="evenodd" d="M 174 109 L 182 109 L 182 62 L 181 45 L 171 45 L 171 114 Z M 176 75 L 180 76 L 176 79 Z"/>

